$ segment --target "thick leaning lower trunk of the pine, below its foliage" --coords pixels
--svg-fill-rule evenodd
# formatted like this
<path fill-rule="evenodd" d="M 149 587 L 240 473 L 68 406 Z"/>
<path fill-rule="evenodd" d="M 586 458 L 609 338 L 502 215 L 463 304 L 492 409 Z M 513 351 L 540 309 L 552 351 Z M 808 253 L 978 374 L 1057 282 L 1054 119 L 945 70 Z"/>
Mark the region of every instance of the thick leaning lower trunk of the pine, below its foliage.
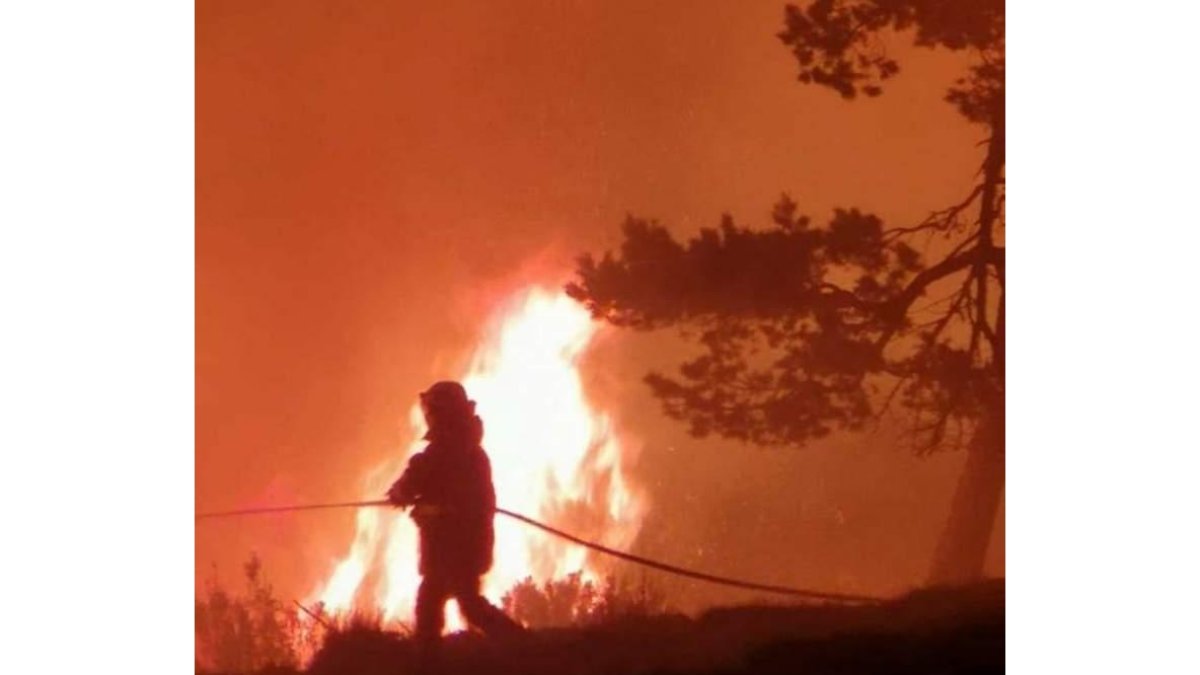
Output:
<path fill-rule="evenodd" d="M 1000 411 L 985 416 L 971 440 L 950 514 L 934 552 L 930 585 L 959 585 L 983 578 L 1003 489 L 1004 414 Z"/>

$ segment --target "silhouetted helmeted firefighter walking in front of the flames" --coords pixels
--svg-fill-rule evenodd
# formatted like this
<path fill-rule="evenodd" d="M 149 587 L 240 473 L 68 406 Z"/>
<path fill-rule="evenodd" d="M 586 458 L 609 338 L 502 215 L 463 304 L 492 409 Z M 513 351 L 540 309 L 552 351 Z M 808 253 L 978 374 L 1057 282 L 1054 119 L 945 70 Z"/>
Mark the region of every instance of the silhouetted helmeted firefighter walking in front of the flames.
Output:
<path fill-rule="evenodd" d="M 475 401 L 457 382 L 437 382 L 420 400 L 428 444 L 388 490 L 392 504 L 412 507 L 420 531 L 416 637 L 436 641 L 442 635 L 450 598 L 484 633 L 517 634 L 521 625 L 480 593 L 480 578 L 492 567 L 496 489 Z"/>

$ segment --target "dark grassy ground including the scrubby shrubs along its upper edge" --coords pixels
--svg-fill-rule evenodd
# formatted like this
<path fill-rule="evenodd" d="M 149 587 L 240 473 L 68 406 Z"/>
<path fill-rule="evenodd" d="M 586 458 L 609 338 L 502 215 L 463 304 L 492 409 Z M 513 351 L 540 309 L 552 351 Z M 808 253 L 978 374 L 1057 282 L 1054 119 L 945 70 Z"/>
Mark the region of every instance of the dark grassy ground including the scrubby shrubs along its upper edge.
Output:
<path fill-rule="evenodd" d="M 247 581 L 242 597 L 217 590 L 197 603 L 197 667 L 202 664 L 202 646 L 211 656 L 214 645 L 223 645 L 222 661 L 206 662 L 210 673 L 300 673 L 298 652 L 284 655 L 280 645 L 304 641 L 287 633 L 304 622 L 292 626 L 268 619 L 269 610 L 278 609 L 280 603 L 257 568 L 251 573 L 247 566 Z M 538 604 L 541 601 L 534 597 L 535 591 L 524 589 L 521 602 L 541 613 L 546 608 Z M 530 631 L 520 641 L 508 643 L 466 633 L 450 635 L 436 662 L 422 659 L 402 626 L 385 629 L 371 616 L 342 621 L 323 616 L 319 626 L 307 622 L 305 640 L 313 656 L 306 673 L 820 675 L 1004 670 L 1003 580 L 919 591 L 877 607 L 749 605 L 713 609 L 698 617 L 664 613 L 661 605 L 646 611 L 636 603 L 606 614 L 595 610 L 599 596 L 582 587 L 545 591 L 554 593 L 554 602 L 563 605 L 548 615 L 553 621 L 547 623 L 558 627 Z M 580 607 L 592 608 L 583 620 L 564 599 L 575 597 L 588 601 Z M 206 633 L 202 640 L 199 619 L 204 613 Z M 575 616 L 575 625 L 563 625 L 560 620 L 568 616 Z M 256 635 L 254 631 L 268 634 Z"/>

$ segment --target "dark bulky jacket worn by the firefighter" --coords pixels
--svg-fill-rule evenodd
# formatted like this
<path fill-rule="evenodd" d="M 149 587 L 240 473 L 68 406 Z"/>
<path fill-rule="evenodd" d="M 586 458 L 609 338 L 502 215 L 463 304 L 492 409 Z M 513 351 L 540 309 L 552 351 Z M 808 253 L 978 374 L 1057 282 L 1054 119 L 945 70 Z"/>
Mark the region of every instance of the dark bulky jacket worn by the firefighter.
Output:
<path fill-rule="evenodd" d="M 422 577 L 480 577 L 492 567 L 496 489 L 482 437 L 478 416 L 431 430 L 389 492 L 414 504 Z"/>

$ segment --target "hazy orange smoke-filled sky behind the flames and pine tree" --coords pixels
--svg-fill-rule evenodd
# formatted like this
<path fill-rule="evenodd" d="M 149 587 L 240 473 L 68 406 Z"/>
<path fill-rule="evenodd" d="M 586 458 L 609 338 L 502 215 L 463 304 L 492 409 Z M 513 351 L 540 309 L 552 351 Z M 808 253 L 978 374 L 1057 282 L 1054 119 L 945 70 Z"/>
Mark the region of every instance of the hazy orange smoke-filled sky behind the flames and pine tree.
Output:
<path fill-rule="evenodd" d="M 817 221 L 858 207 L 911 223 L 961 198 L 983 136 L 942 101 L 962 61 L 896 40 L 901 76 L 846 102 L 796 82 L 782 13 L 198 2 L 197 508 L 361 497 L 490 303 L 560 286 L 626 214 L 686 235 L 722 213 L 766 225 L 784 192 Z M 640 551 L 824 589 L 923 580 L 960 456 L 917 459 L 886 430 L 803 450 L 689 438 L 641 383 L 678 348 L 608 333 L 586 364 L 642 448 Z M 198 525 L 198 581 L 257 551 L 284 597 L 304 593 L 352 534 L 347 513 Z M 1003 527 L 994 540 L 1002 573 Z"/>

